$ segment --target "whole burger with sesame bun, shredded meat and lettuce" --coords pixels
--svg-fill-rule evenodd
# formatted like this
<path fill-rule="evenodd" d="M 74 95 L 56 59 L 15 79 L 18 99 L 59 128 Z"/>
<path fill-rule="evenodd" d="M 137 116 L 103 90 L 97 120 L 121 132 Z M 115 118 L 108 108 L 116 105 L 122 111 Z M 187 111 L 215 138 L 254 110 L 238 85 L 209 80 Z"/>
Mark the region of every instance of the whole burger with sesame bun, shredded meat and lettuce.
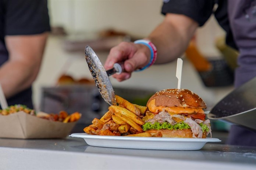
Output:
<path fill-rule="evenodd" d="M 147 101 L 142 126 L 155 137 L 206 138 L 211 134 L 205 119 L 205 102 L 188 89 L 165 89 Z"/>

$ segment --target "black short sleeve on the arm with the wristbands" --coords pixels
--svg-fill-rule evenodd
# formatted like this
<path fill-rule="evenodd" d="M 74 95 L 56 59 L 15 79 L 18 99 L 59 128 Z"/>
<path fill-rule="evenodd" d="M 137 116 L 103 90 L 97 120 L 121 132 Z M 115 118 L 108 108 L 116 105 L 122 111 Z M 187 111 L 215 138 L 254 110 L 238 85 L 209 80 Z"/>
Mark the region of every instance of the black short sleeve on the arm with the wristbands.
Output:
<path fill-rule="evenodd" d="M 213 6 L 214 0 L 164 0 L 162 14 L 183 14 L 202 26 L 213 13 Z"/>

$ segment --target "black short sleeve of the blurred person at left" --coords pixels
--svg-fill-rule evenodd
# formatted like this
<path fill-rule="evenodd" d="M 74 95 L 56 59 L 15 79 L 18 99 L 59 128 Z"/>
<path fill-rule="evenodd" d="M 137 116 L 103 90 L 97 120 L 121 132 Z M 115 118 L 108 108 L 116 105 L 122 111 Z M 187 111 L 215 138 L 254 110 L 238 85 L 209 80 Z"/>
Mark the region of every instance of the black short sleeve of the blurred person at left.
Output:
<path fill-rule="evenodd" d="M 5 0 L 6 35 L 31 35 L 50 31 L 47 0 Z"/>

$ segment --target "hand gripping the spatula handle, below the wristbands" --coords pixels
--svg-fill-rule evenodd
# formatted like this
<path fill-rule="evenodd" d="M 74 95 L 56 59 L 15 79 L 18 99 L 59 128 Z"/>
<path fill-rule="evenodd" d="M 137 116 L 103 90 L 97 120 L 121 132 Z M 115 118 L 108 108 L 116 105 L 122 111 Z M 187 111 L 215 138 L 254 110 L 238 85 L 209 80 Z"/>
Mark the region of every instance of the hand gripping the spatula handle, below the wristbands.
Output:
<path fill-rule="evenodd" d="M 143 44 L 133 42 L 121 42 L 110 49 L 110 53 L 104 64 L 106 70 L 113 68 L 115 63 L 124 62 L 124 71 L 121 74 L 114 74 L 118 81 L 131 77 L 134 70 L 146 66 L 150 62 L 150 49 Z"/>

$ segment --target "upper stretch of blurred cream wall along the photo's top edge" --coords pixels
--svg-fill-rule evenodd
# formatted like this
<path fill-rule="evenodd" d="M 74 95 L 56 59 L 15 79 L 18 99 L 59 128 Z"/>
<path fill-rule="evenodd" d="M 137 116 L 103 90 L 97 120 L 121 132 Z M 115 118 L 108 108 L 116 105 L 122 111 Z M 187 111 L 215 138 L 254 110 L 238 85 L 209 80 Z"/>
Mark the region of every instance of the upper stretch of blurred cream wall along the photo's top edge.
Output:
<path fill-rule="evenodd" d="M 159 24 L 161 0 L 49 0 L 52 25 L 91 32 L 113 27 L 146 36 Z"/>

